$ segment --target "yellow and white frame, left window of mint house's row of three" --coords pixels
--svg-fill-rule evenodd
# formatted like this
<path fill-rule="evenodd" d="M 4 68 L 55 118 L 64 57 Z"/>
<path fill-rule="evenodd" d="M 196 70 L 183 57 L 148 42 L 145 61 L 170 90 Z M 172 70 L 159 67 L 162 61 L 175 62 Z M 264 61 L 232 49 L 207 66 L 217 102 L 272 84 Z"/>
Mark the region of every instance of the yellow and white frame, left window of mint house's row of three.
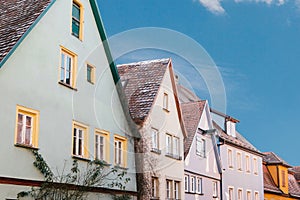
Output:
<path fill-rule="evenodd" d="M 77 147 L 78 145 L 78 141 L 77 140 L 77 135 L 75 138 L 75 129 L 79 129 L 82 131 L 82 149 L 81 149 L 81 154 L 79 154 L 79 149 L 80 147 Z M 76 157 L 76 158 L 84 158 L 84 159 L 88 159 L 89 157 L 89 151 L 88 151 L 88 147 L 89 147 L 89 141 L 88 141 L 88 136 L 89 136 L 89 127 L 81 122 L 75 121 L 73 120 L 72 122 L 72 156 Z M 74 142 L 74 140 L 76 140 L 77 143 Z M 76 146 L 74 146 L 76 145 Z M 74 152 L 74 148 L 75 148 L 75 152 Z"/>

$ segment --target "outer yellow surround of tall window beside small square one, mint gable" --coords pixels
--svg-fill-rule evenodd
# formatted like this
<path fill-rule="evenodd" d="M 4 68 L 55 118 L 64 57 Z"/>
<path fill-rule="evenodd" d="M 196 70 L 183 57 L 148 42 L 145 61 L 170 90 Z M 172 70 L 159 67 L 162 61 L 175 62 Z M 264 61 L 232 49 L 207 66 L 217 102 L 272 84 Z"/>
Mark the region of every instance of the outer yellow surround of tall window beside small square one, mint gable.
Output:
<path fill-rule="evenodd" d="M 72 66 L 71 66 L 71 82 L 70 85 L 61 81 L 61 66 L 62 66 L 62 60 L 61 60 L 61 55 L 66 54 L 72 58 Z M 65 48 L 64 46 L 60 46 L 60 57 L 59 57 L 59 74 L 58 74 L 58 81 L 59 83 L 75 88 L 76 87 L 76 78 L 77 78 L 77 54 L 74 53 L 73 51 Z"/>

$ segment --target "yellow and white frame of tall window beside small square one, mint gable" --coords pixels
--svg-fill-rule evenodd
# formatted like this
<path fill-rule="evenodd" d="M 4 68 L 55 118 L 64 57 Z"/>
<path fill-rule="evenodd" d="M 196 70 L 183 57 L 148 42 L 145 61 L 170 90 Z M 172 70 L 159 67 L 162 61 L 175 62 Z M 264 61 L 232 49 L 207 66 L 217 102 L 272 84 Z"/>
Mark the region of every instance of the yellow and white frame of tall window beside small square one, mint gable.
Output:
<path fill-rule="evenodd" d="M 70 83 L 67 83 L 67 68 L 66 66 L 62 66 L 62 55 L 68 56 L 71 58 L 71 70 L 70 70 Z M 64 59 L 64 65 L 66 65 L 66 58 Z M 64 69 L 64 77 L 62 80 L 62 69 Z M 77 78 L 77 54 L 72 52 L 71 50 L 60 46 L 60 61 L 59 61 L 59 83 L 71 89 L 76 88 L 76 78 Z M 76 90 L 76 89 L 75 89 Z"/>

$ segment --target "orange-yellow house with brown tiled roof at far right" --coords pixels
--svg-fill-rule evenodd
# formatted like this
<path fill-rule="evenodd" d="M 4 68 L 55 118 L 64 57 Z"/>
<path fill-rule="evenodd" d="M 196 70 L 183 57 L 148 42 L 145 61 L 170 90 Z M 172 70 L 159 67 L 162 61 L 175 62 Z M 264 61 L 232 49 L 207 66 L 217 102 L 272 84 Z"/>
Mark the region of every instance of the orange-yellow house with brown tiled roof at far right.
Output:
<path fill-rule="evenodd" d="M 264 154 L 264 199 L 300 199 L 300 187 L 291 166 L 273 152 Z"/>

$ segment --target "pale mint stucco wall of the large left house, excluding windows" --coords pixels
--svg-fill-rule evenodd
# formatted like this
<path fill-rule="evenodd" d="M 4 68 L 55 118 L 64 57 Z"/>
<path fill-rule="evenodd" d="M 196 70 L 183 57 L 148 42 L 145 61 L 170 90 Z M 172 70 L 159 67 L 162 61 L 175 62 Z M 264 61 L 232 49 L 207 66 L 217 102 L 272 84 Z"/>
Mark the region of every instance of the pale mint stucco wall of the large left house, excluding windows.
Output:
<path fill-rule="evenodd" d="M 72 1 L 56 1 L 41 21 L 0 69 L 0 176 L 22 179 L 43 177 L 33 167 L 27 149 L 15 147 L 16 106 L 40 111 L 39 151 L 52 167 L 61 171 L 71 165 L 72 120 L 89 126 L 89 157 L 94 155 L 94 129 L 124 136 L 129 129 L 115 91 L 109 64 L 88 0 L 84 6 L 84 34 L 71 35 Z M 58 84 L 60 46 L 78 55 L 77 84 L 72 90 Z M 86 62 L 96 67 L 96 84 L 86 81 Z M 128 190 L 136 190 L 133 140 L 128 139 Z M 110 163 L 113 164 L 113 149 Z M 7 191 L 7 194 L 9 191 Z M 3 193 L 2 193 L 3 194 Z"/>

